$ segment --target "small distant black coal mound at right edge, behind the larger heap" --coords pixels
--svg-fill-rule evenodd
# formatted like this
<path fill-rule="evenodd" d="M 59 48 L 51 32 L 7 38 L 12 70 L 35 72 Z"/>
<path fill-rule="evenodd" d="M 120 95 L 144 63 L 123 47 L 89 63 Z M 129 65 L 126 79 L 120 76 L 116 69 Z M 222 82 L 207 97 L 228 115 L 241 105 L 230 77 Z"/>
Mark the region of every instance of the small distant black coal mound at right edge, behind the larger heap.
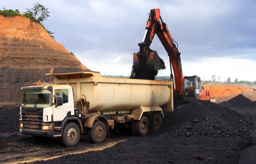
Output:
<path fill-rule="evenodd" d="M 240 94 L 228 101 L 219 103 L 219 105 L 227 108 L 256 107 L 256 102 Z"/>

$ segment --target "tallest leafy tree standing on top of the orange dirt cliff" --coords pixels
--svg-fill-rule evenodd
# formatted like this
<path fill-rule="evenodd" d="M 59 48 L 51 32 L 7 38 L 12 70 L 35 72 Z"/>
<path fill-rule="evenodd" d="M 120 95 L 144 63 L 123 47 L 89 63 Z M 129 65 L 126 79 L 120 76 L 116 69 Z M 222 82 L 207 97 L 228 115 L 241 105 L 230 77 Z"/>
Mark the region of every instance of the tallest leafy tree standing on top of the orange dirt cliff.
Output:
<path fill-rule="evenodd" d="M 27 11 L 24 13 L 24 15 L 37 23 L 42 23 L 47 20 L 47 18 L 49 17 L 49 13 L 50 12 L 48 11 L 48 8 L 45 8 L 39 3 L 36 3 L 34 4 L 34 8 L 27 8 Z"/>

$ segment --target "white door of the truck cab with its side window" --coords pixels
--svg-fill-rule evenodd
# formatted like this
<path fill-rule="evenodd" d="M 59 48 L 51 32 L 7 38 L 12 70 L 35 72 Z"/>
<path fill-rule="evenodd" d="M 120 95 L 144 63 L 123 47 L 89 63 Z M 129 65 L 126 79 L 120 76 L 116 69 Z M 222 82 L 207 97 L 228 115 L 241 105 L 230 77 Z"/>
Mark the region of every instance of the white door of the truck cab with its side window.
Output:
<path fill-rule="evenodd" d="M 62 121 L 67 116 L 67 113 L 71 111 L 70 88 L 54 88 L 53 95 L 63 97 L 62 106 L 53 106 L 53 121 Z M 56 99 L 53 100 L 54 104 L 56 104 Z"/>

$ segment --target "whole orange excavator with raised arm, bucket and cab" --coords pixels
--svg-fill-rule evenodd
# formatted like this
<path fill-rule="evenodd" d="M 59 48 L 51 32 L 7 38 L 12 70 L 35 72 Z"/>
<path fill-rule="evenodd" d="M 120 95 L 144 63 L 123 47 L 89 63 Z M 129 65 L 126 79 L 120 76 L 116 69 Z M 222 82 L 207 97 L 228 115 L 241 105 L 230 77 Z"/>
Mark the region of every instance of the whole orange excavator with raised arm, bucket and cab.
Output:
<path fill-rule="evenodd" d="M 170 59 L 171 79 L 173 79 L 173 68 L 175 78 L 173 93 L 174 103 L 189 102 L 194 99 L 210 101 L 210 91 L 201 86 L 200 77 L 183 77 L 180 52 L 178 52 L 178 49 L 174 44 L 175 41 L 171 37 L 166 24 L 160 16 L 159 9 L 151 9 L 149 13 L 146 32 L 142 43 L 139 43 L 140 51 L 133 54 L 133 70 L 131 78 L 154 80 L 158 70 L 165 68 L 165 64 L 158 56 L 157 52 L 149 48 L 155 34 L 157 34 L 163 47 L 165 47 L 165 50 L 168 53 Z"/>

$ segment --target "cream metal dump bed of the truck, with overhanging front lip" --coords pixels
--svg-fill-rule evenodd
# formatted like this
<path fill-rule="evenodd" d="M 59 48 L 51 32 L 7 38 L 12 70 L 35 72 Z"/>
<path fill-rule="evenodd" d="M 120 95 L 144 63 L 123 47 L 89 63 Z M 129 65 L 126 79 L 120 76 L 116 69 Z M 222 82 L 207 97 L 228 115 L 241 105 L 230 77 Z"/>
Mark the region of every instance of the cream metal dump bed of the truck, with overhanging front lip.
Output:
<path fill-rule="evenodd" d="M 54 74 L 62 84 L 73 88 L 74 101 L 84 95 L 90 112 L 116 112 L 140 106 L 169 106 L 173 81 L 102 77 L 99 72 Z M 82 97 L 83 98 L 83 97 Z"/>

